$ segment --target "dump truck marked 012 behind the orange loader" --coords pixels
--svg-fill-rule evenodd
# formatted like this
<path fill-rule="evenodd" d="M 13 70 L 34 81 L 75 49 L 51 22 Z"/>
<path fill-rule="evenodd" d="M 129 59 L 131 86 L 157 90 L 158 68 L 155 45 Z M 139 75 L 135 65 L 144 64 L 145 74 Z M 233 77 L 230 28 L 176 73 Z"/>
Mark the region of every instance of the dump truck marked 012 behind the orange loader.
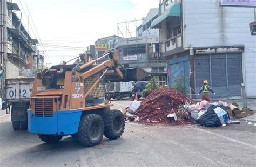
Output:
<path fill-rule="evenodd" d="M 28 129 L 28 115 L 30 97 L 32 94 L 35 74 L 42 69 L 21 69 L 18 78 L 5 79 L 5 94 L 8 107 L 6 114 L 11 113 L 12 128 L 14 130 Z M 10 112 L 11 110 L 11 112 Z"/>

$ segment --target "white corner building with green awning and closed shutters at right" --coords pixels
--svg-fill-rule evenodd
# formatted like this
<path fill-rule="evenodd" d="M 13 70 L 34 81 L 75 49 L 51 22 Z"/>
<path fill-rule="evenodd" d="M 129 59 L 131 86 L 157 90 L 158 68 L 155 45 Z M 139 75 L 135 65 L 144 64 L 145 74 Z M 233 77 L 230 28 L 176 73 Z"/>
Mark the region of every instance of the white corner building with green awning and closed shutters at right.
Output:
<path fill-rule="evenodd" d="M 254 8 L 220 6 L 219 0 L 159 1 L 161 54 L 167 59 L 169 85 L 184 76 L 188 94 L 208 80 L 216 97 L 256 97 L 256 36 L 250 33 Z M 194 92 L 193 90 L 196 90 Z"/>

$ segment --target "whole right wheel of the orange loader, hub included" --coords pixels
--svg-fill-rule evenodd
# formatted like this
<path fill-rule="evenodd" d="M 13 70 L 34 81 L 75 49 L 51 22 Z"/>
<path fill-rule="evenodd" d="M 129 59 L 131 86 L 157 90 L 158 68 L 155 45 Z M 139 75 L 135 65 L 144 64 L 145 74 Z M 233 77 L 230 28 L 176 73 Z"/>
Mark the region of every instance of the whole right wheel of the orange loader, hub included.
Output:
<path fill-rule="evenodd" d="M 125 121 L 122 112 L 119 110 L 110 110 L 104 116 L 104 135 L 113 140 L 120 138 L 124 133 Z"/>

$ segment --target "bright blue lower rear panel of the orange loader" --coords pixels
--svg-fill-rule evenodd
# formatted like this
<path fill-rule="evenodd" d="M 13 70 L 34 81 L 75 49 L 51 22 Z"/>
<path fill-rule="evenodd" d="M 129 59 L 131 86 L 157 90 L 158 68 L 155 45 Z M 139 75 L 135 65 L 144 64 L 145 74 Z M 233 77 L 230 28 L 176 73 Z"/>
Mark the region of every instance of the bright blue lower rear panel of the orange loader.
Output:
<path fill-rule="evenodd" d="M 76 134 L 81 115 L 82 110 L 59 110 L 52 117 L 36 116 L 28 109 L 28 130 L 34 134 Z"/>

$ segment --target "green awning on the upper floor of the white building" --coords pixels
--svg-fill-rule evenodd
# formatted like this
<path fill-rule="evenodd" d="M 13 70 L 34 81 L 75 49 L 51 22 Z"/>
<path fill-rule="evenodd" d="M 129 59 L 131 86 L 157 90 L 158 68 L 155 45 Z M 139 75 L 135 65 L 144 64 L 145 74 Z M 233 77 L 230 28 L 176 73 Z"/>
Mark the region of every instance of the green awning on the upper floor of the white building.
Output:
<path fill-rule="evenodd" d="M 167 9 L 163 14 L 161 14 L 158 18 L 154 19 L 151 23 L 151 28 L 157 29 L 160 27 L 160 23 L 163 22 L 164 19 L 170 16 L 180 17 L 181 13 L 181 3 L 174 4 L 171 8 Z"/>

